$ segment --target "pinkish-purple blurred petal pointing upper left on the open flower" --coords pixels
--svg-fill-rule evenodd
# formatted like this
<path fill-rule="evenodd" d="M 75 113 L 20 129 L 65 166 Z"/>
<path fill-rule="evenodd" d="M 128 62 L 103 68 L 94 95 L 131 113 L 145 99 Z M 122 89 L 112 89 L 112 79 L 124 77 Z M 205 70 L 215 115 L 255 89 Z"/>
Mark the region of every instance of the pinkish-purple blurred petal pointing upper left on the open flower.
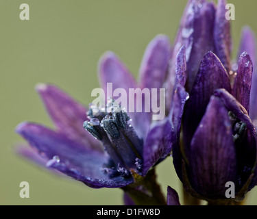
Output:
<path fill-rule="evenodd" d="M 60 133 L 85 146 L 101 150 L 101 144 L 83 129 L 86 107 L 53 85 L 39 84 L 36 90 Z"/>

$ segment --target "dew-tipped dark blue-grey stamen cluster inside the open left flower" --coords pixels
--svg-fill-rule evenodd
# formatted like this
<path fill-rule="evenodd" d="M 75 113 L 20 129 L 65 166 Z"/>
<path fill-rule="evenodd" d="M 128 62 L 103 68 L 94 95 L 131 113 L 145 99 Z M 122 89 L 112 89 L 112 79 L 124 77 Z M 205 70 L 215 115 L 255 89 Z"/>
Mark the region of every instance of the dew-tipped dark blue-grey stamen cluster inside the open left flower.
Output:
<path fill-rule="evenodd" d="M 138 138 L 129 116 L 121 105 L 109 99 L 106 107 L 90 105 L 83 127 L 103 143 L 111 161 L 102 171 L 109 177 L 131 177 L 130 168 L 143 168 L 143 141 Z"/>

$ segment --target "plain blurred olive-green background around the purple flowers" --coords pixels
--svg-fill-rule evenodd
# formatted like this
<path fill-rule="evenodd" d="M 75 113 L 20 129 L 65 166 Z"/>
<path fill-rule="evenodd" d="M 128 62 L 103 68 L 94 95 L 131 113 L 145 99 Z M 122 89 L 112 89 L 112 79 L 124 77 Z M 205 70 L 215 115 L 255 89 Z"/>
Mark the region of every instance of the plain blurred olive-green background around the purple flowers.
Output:
<path fill-rule="evenodd" d="M 19 19 L 21 3 L 29 5 L 29 21 Z M 243 25 L 257 33 L 257 1 L 230 3 L 236 7 L 236 49 Z M 94 190 L 15 155 L 14 144 L 23 140 L 14 128 L 24 120 L 52 127 L 34 91 L 38 82 L 54 83 L 88 105 L 91 90 L 99 87 L 97 62 L 105 51 L 117 53 L 137 77 L 156 34 L 173 42 L 185 5 L 186 0 L 0 0 L 0 205 L 122 204 L 119 189 Z M 157 170 L 165 194 L 167 185 L 181 194 L 171 157 Z M 29 182 L 30 198 L 20 198 L 21 181 Z M 254 189 L 247 204 L 256 205 L 256 195 Z"/>

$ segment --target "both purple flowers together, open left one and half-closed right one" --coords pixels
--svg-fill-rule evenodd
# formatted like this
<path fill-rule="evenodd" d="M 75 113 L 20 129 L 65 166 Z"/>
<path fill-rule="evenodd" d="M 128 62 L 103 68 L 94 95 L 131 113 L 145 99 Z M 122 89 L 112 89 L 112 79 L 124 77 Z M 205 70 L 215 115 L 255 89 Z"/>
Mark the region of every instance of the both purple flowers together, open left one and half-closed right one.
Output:
<path fill-rule="evenodd" d="M 164 35 L 148 44 L 138 82 L 114 53 L 99 60 L 103 90 L 108 83 L 127 92 L 165 88 L 163 120 L 151 120 L 153 112 L 127 112 L 114 99 L 86 108 L 56 86 L 40 84 L 36 90 L 56 129 L 21 123 L 16 131 L 31 147 L 19 153 L 91 188 L 121 188 L 125 204 L 180 205 L 170 187 L 164 198 L 154 172 L 172 154 L 191 196 L 211 204 L 242 201 L 257 183 L 256 44 L 246 27 L 231 60 L 225 4 L 189 0 L 173 47 Z M 234 197 L 225 196 L 227 182 L 235 185 Z"/>

